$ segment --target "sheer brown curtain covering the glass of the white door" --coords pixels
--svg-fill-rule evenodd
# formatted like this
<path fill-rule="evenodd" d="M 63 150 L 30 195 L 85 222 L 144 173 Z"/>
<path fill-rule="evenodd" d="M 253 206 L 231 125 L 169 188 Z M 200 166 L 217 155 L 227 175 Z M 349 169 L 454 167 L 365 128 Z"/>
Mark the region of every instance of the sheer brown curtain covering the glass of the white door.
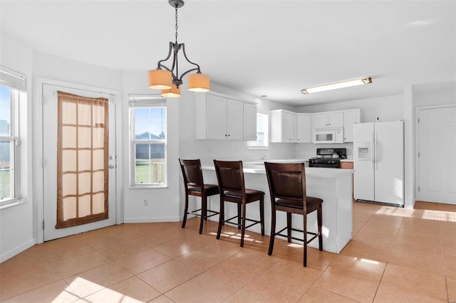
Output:
<path fill-rule="evenodd" d="M 57 224 L 108 218 L 108 99 L 58 92 Z"/>

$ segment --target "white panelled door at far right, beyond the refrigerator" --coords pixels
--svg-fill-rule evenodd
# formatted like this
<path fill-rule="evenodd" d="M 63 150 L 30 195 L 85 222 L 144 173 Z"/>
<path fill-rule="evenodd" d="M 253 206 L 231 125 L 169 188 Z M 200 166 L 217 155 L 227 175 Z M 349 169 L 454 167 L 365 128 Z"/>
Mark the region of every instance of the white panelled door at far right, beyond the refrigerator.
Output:
<path fill-rule="evenodd" d="M 456 204 L 456 107 L 418 110 L 418 201 Z"/>

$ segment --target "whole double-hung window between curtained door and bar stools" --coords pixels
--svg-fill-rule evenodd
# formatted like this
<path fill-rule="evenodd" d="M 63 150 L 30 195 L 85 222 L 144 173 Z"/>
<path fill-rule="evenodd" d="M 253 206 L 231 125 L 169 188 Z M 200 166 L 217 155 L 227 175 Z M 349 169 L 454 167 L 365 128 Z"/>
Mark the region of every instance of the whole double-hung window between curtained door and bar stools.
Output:
<path fill-rule="evenodd" d="M 166 99 L 130 95 L 130 185 L 167 186 Z"/>

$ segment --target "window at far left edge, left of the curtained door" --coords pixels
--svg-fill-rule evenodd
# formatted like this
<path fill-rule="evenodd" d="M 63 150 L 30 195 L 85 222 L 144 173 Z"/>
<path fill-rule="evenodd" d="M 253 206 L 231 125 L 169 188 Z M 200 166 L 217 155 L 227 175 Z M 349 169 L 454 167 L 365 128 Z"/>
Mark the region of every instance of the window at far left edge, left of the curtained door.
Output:
<path fill-rule="evenodd" d="M 26 76 L 0 66 L 0 206 L 19 200 L 19 102 Z"/>

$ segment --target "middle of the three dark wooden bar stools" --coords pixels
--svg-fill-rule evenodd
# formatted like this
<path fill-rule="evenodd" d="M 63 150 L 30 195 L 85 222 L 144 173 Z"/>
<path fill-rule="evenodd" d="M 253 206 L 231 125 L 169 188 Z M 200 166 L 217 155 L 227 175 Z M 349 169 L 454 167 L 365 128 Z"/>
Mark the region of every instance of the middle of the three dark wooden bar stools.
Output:
<path fill-rule="evenodd" d="M 230 223 L 241 230 L 241 247 L 244 246 L 245 229 L 260 224 L 261 235 L 264 235 L 264 192 L 245 188 L 244 171 L 242 161 L 217 161 L 214 160 L 215 172 L 219 183 L 220 192 L 220 216 L 217 239 L 222 233 L 222 225 Z M 225 220 L 224 202 L 237 203 L 237 216 Z M 259 201 L 260 220 L 246 218 L 246 206 L 248 203 Z M 237 218 L 237 223 L 232 220 Z M 252 224 L 246 226 L 246 221 Z"/>

